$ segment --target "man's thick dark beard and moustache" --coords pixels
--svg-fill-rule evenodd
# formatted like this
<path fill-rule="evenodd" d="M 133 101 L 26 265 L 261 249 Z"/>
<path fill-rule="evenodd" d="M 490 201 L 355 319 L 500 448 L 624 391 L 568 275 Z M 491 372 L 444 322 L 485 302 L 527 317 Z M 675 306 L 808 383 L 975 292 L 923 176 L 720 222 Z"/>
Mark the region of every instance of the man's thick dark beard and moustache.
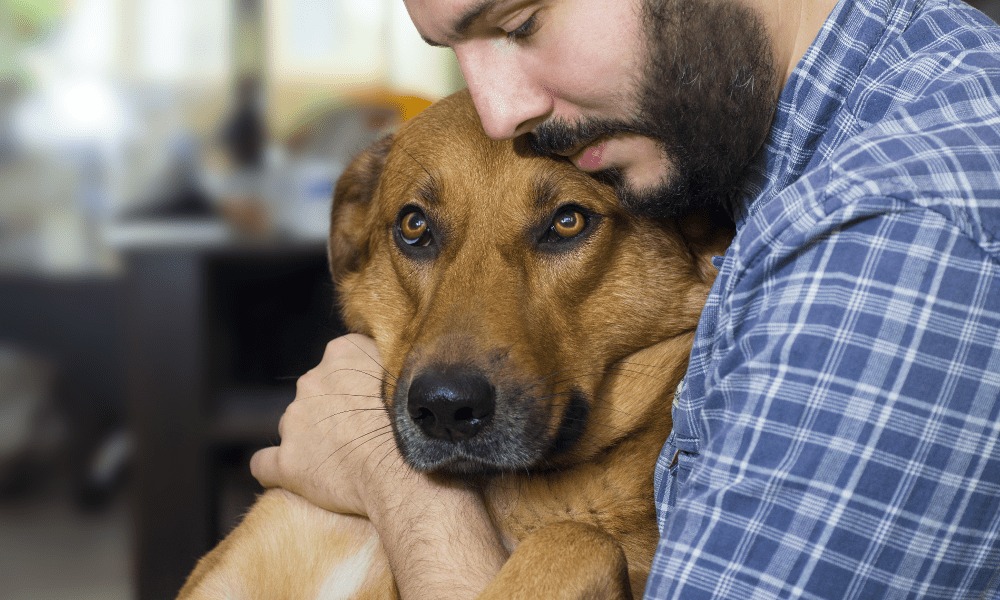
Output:
<path fill-rule="evenodd" d="M 778 73 L 761 18 L 732 0 L 645 0 L 647 59 L 636 114 L 621 120 L 551 120 L 528 136 L 553 155 L 601 138 L 638 134 L 658 142 L 671 169 L 637 189 L 618 169 L 594 176 L 612 184 L 635 213 L 675 217 L 724 207 L 760 149 L 774 114 Z"/>

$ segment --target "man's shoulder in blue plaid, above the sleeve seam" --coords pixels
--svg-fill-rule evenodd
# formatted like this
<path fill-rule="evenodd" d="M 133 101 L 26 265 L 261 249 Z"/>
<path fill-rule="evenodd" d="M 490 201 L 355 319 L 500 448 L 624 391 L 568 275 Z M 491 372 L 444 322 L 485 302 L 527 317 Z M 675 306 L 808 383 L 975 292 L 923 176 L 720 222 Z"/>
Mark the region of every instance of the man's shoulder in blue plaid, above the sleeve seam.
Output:
<path fill-rule="evenodd" d="M 962 3 L 926 4 L 886 35 L 810 167 L 757 207 L 747 237 L 808 240 L 863 211 L 927 211 L 1000 260 L 1000 27 Z"/>

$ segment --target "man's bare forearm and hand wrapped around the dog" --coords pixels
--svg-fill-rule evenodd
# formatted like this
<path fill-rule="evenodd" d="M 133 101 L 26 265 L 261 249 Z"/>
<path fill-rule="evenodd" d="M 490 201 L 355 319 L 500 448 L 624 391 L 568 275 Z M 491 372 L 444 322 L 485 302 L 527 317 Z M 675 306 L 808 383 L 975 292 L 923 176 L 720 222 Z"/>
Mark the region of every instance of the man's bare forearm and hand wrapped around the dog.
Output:
<path fill-rule="evenodd" d="M 327 345 L 281 419 L 281 445 L 254 455 L 265 487 L 367 516 L 403 598 L 472 598 L 507 558 L 478 492 L 412 470 L 380 398 L 378 351 L 359 335 Z"/>

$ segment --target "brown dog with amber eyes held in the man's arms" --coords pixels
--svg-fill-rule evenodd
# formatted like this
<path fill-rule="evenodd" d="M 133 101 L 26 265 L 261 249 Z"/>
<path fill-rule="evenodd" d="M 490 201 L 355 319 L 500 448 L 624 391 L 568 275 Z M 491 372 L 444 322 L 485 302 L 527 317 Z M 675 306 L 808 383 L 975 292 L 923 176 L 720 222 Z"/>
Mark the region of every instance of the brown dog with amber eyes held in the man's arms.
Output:
<path fill-rule="evenodd" d="M 341 178 L 331 270 L 345 322 L 383 357 L 399 449 L 477 482 L 514 549 L 484 597 L 641 595 L 653 465 L 728 242 L 704 221 L 634 217 L 572 165 L 489 140 L 464 92 Z M 180 595 L 394 596 L 366 520 L 283 491 Z"/>

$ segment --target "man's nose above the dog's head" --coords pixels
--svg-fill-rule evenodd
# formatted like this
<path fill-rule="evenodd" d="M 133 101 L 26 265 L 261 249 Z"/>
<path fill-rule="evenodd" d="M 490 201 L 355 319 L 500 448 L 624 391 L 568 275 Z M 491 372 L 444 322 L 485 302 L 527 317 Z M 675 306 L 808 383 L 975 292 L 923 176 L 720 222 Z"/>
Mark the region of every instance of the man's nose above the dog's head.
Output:
<path fill-rule="evenodd" d="M 551 114 L 551 95 L 509 50 L 486 42 L 455 53 L 489 137 L 505 140 L 528 133 Z"/>

